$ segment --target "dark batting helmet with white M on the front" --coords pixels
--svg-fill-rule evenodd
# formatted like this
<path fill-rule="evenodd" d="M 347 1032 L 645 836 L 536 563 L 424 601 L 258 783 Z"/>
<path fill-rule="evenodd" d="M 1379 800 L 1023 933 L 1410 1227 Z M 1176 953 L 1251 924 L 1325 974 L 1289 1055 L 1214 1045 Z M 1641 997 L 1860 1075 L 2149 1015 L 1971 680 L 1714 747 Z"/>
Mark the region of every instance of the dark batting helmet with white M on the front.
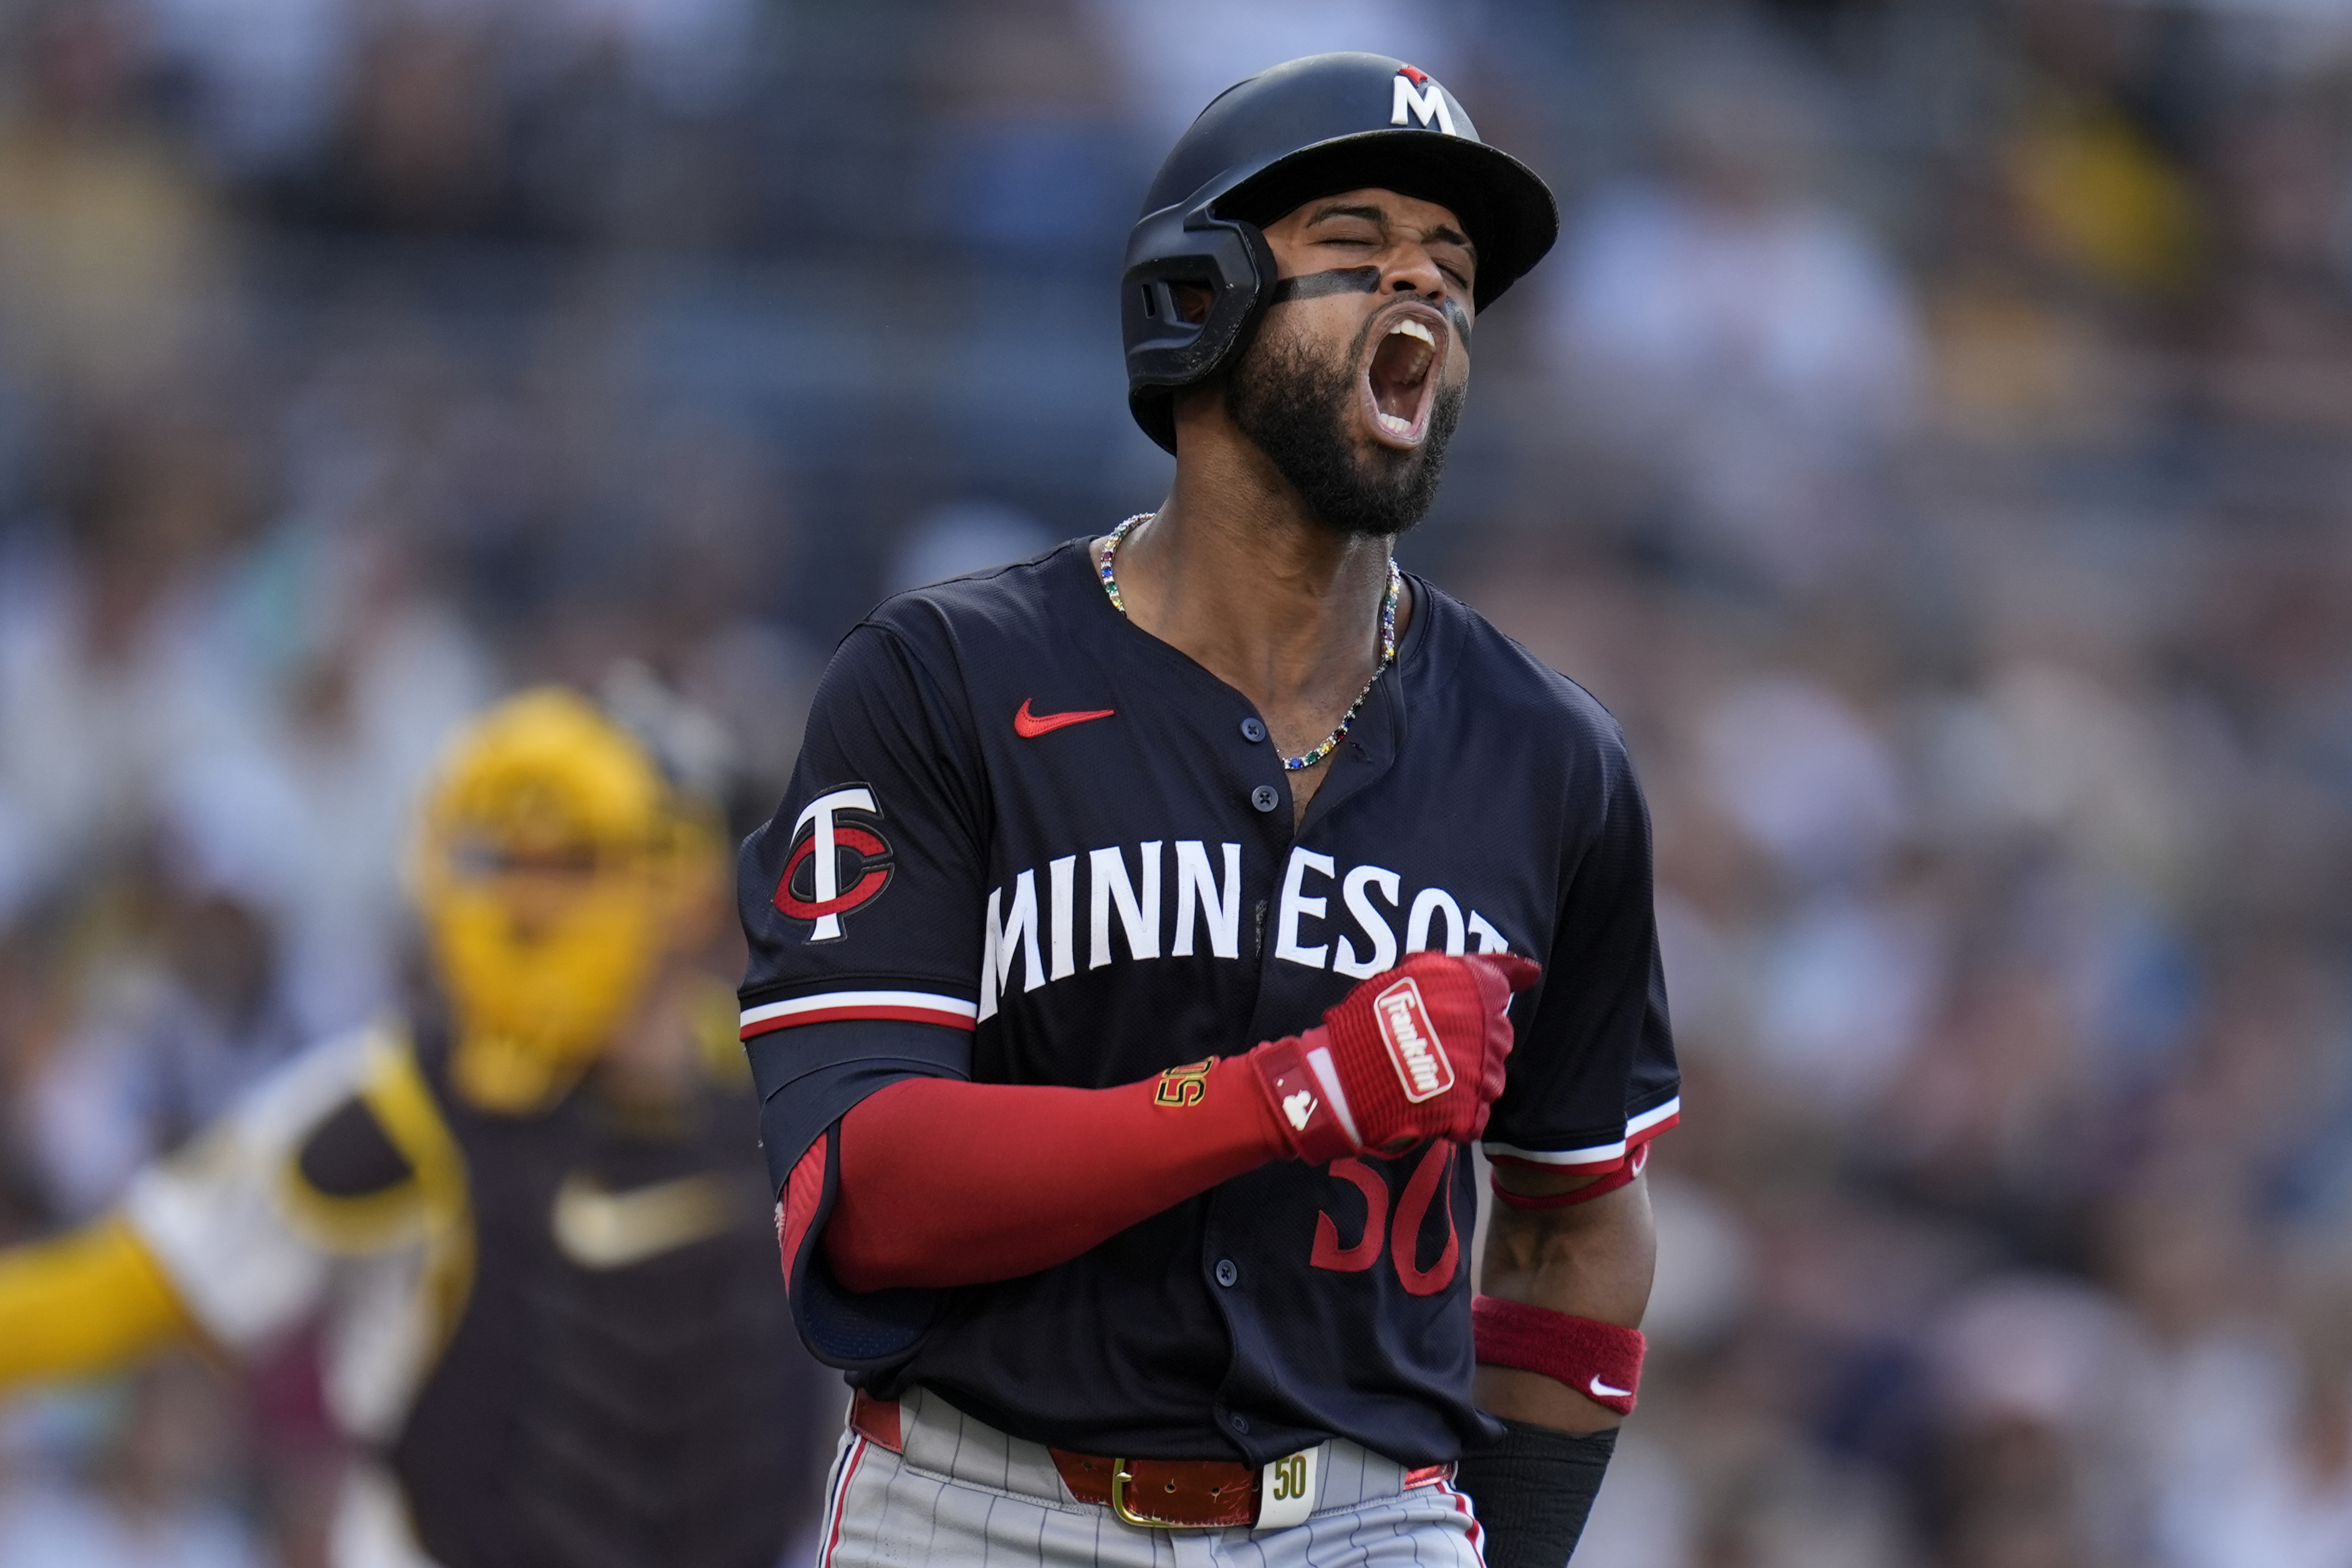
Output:
<path fill-rule="evenodd" d="M 1127 407 L 1145 435 L 1176 451 L 1176 388 L 1230 362 L 1265 315 L 1275 254 L 1263 226 L 1359 186 L 1449 207 L 1477 244 L 1482 308 L 1559 235 L 1552 190 L 1479 141 L 1425 71 L 1385 54 L 1310 54 L 1261 71 L 1176 139 L 1127 235 Z M 1204 320 L 1178 315 L 1174 282 L 1209 289 Z"/>

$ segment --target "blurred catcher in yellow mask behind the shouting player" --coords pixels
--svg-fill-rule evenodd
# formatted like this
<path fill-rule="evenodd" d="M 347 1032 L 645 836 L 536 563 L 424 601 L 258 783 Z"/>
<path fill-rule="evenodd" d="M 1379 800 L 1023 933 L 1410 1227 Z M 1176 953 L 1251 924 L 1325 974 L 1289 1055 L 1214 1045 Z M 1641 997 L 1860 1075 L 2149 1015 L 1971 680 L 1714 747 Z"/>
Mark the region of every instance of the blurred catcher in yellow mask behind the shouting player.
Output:
<path fill-rule="evenodd" d="M 720 823 L 583 698 L 449 750 L 442 1004 L 268 1079 L 122 1208 L 0 1253 L 0 1389 L 325 1319 L 339 1568 L 774 1563 L 807 1387 L 731 1001 Z"/>

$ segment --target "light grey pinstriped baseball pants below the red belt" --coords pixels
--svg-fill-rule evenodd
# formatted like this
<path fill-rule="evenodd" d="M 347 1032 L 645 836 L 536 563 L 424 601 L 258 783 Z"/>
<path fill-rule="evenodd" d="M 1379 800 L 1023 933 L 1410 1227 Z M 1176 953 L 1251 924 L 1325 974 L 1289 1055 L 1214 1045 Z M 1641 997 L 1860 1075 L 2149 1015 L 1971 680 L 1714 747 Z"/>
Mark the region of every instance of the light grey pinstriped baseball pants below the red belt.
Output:
<path fill-rule="evenodd" d="M 906 1453 L 842 1434 L 818 1568 L 1484 1568 L 1465 1495 L 1442 1483 L 1402 1490 L 1402 1465 L 1348 1441 L 1327 1448 L 1301 1526 L 1143 1530 L 1070 1497 L 1044 1446 L 922 1389 L 901 1401 L 901 1436 Z"/>

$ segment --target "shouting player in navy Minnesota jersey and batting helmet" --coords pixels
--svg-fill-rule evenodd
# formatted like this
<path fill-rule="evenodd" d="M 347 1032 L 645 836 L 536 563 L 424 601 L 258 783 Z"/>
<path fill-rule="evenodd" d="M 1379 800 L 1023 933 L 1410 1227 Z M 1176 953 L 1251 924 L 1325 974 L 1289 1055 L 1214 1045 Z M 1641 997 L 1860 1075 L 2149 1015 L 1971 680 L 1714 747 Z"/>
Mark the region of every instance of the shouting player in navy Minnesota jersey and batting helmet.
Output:
<path fill-rule="evenodd" d="M 1557 212 L 1374 54 L 1218 96 L 1143 209 L 1167 503 L 877 609 L 741 858 L 793 1316 L 858 1389 L 826 1563 L 1559 1568 L 1677 1117 L 1649 818 L 1390 559 Z"/>

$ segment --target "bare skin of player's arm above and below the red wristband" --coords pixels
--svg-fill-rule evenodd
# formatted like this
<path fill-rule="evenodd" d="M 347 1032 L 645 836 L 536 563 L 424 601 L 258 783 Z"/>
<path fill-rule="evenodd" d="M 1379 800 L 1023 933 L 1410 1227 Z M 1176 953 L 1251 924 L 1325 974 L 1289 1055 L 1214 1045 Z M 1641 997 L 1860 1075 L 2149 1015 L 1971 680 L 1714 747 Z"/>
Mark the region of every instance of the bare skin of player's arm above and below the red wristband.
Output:
<path fill-rule="evenodd" d="M 1656 1258 L 1642 1180 L 1576 1208 L 1496 1206 L 1482 1291 L 1545 1312 L 1639 1328 Z M 1515 1366 L 1479 1366 L 1477 1403 L 1494 1415 L 1559 1432 L 1599 1432 L 1621 1420 L 1578 1389 Z"/>

